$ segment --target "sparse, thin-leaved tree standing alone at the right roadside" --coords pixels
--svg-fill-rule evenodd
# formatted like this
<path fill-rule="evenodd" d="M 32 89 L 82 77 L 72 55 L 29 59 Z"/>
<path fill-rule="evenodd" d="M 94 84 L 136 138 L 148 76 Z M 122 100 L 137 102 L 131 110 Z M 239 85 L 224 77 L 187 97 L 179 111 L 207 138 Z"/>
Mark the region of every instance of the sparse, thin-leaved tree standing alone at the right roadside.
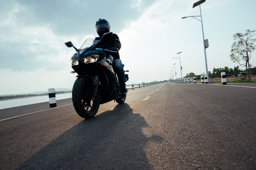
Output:
<path fill-rule="evenodd" d="M 244 34 L 234 34 L 234 43 L 231 46 L 231 54 L 229 56 L 233 63 L 238 62 L 242 67 L 246 67 L 248 80 L 251 80 L 249 60 L 252 57 L 252 52 L 255 50 L 254 42 L 256 39 L 253 38 L 255 35 L 254 32 L 255 30 L 246 30 Z M 244 63 L 241 63 L 242 61 L 244 61 Z"/>

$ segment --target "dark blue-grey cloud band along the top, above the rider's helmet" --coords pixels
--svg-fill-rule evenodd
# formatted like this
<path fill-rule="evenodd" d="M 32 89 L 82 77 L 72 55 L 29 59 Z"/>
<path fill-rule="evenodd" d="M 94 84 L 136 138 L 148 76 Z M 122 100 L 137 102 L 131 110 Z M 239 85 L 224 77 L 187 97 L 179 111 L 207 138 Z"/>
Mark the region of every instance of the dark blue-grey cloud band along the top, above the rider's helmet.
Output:
<path fill-rule="evenodd" d="M 154 0 L 139 0 L 139 9 L 132 8 L 134 0 L 12 0 L 4 6 L 18 8 L 19 26 L 49 25 L 57 35 L 94 33 L 94 24 L 105 18 L 120 31 L 136 19 Z M 8 11 L 6 11 L 8 13 Z"/>

